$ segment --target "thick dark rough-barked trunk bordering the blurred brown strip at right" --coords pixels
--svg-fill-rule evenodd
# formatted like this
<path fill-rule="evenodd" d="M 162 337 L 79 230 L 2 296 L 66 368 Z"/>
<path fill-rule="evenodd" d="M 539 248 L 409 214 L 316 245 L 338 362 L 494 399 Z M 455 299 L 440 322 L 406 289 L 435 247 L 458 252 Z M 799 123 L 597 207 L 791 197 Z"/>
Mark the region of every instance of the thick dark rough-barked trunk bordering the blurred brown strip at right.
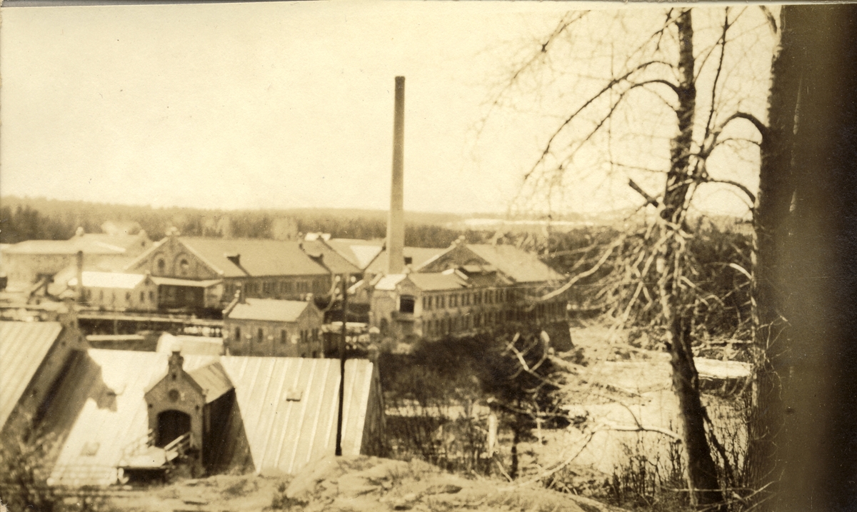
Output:
<path fill-rule="evenodd" d="M 775 360 L 787 336 L 782 258 L 788 240 L 789 207 L 794 196 L 792 147 L 800 89 L 795 64 L 800 51 L 795 39 L 794 8 L 780 14 L 777 45 L 770 68 L 768 129 L 759 148 L 761 165 L 753 224 L 752 404 L 747 419 L 746 486 L 758 492 L 753 501 L 770 509 L 776 492 L 776 432 L 782 428 L 780 376 Z"/>

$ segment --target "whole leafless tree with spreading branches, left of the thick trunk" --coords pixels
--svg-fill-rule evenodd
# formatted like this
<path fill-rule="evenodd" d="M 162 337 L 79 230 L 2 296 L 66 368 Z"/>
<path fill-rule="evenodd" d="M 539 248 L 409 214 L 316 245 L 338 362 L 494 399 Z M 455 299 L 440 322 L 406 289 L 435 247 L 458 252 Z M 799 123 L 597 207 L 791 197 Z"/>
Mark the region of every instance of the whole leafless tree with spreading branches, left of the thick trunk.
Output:
<path fill-rule="evenodd" d="M 734 188 L 751 207 L 756 203 L 752 179 L 740 182 L 722 171 L 750 154 L 746 158 L 751 160 L 748 167 L 752 174 L 752 151 L 759 144 L 759 134 L 768 132 L 759 117 L 744 108 L 755 105 L 760 110 L 764 88 L 748 96 L 746 87 L 734 84 L 746 85 L 758 79 L 748 77 L 746 69 L 742 75 L 741 67 L 748 68 L 747 49 L 764 39 L 770 13 L 765 9 L 702 10 L 706 22 L 701 24 L 702 37 L 694 20 L 698 12 L 668 9 L 662 21 L 648 25 L 647 36 L 626 51 L 615 51 L 614 39 L 590 44 L 592 55 L 599 48 L 610 49 L 610 73 L 600 80 L 600 86 L 593 86 L 599 80 L 592 76 L 575 82 L 588 92 L 568 107 L 570 113 L 560 119 L 546 140 L 524 184 L 530 192 L 525 199 L 530 204 L 536 197 L 544 199 L 541 202 L 549 211 L 562 189 L 572 185 L 570 176 L 600 167 L 614 175 L 631 176 L 632 188 L 643 195 L 644 205 L 657 209 L 644 229 L 625 235 L 609 247 L 608 252 L 624 251 L 624 255 L 612 262 L 621 265 L 614 268 L 612 286 L 605 293 L 615 296 L 614 311 L 621 312 L 616 315 L 621 322 L 644 313 L 653 327 L 662 330 L 671 354 L 693 501 L 707 509 L 725 509 L 711 448 L 721 455 L 723 450 L 701 401 L 692 356 L 695 305 L 705 298 L 693 281 L 696 269 L 687 251 L 693 232 L 687 216 L 698 188 L 711 183 Z M 516 87 L 524 77 L 536 74 L 540 66 L 555 66 L 548 57 L 550 52 L 563 38 L 579 39 L 585 33 L 581 26 L 592 22 L 587 20 L 590 16 L 575 13 L 560 21 L 532 57 L 524 59 L 512 74 L 494 104 L 503 104 L 502 98 L 519 92 Z M 632 33 L 632 28 L 623 25 L 626 20 L 613 22 L 620 26 L 620 33 Z M 611 29 L 604 32 L 610 34 Z M 573 51 L 566 57 L 573 59 Z M 572 60 L 567 65 L 574 68 L 576 63 Z M 539 90 L 542 86 L 536 80 L 533 87 Z M 663 116 L 664 112 L 668 114 Z M 740 122 L 749 124 L 742 128 Z M 581 171 L 582 163 L 591 165 Z M 638 185 L 634 176 L 643 176 L 638 180 L 644 185 Z M 661 193 L 645 192 L 658 181 Z M 599 259 L 596 265 L 604 261 Z M 746 269 L 739 270 L 749 275 Z M 731 471 L 725 456 L 722 462 Z"/>

